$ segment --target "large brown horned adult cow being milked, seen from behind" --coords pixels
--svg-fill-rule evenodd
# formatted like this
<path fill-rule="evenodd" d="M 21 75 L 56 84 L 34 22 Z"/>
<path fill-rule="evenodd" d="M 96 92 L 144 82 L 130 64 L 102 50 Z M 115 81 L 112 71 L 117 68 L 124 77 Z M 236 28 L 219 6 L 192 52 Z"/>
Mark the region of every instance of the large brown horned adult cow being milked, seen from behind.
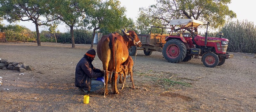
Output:
<path fill-rule="evenodd" d="M 124 36 L 115 34 L 103 35 L 97 45 L 97 55 L 102 61 L 103 70 L 113 71 L 111 86 L 113 93 L 118 94 L 116 81 L 120 65 L 129 56 L 128 48 L 131 46 L 141 46 L 140 39 L 134 31 L 124 31 Z M 105 94 L 108 95 L 108 72 L 105 72 Z"/>

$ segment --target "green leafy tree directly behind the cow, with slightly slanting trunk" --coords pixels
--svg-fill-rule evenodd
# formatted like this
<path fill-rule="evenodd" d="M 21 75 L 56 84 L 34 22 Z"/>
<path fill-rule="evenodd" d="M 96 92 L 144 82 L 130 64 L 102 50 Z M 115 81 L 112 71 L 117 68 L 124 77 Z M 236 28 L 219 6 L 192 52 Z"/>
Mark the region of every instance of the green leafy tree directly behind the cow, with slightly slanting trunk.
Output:
<path fill-rule="evenodd" d="M 103 28 L 105 31 L 115 32 L 120 28 L 123 23 L 125 8 L 120 6 L 118 0 L 109 0 L 101 2 L 97 0 L 97 3 L 92 5 L 90 9 L 86 11 L 86 17 L 83 20 L 84 25 L 88 26 L 88 29 L 93 29 L 91 49 L 93 48 L 93 40 L 96 30 Z"/>

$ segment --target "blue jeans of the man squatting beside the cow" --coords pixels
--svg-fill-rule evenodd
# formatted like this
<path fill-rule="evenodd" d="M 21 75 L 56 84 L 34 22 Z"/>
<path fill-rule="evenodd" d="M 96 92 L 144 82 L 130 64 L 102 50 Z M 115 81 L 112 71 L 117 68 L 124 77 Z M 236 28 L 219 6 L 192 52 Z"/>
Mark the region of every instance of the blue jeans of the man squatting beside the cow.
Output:
<path fill-rule="evenodd" d="M 97 91 L 99 90 L 100 88 L 104 87 L 104 83 L 101 82 L 101 81 L 98 81 L 98 80 L 94 80 L 94 78 L 92 78 L 92 82 L 91 82 L 91 90 L 90 91 L 87 91 L 87 90 L 84 90 L 85 94 L 88 94 L 88 93 L 92 93 L 94 91 Z"/>

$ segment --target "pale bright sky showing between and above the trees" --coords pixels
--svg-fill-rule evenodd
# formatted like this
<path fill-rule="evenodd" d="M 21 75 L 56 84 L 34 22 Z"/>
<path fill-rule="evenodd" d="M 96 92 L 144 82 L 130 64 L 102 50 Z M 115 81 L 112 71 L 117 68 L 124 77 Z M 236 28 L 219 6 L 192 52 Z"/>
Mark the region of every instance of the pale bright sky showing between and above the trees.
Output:
<path fill-rule="evenodd" d="M 137 19 L 137 15 L 139 15 L 140 7 L 148 7 L 152 4 L 156 4 L 156 0 L 119 0 L 121 2 L 121 6 L 126 7 L 126 16 L 127 18 L 132 18 L 134 21 Z M 255 2 L 256 3 L 256 2 Z M 228 4 L 229 10 L 232 10 L 236 13 L 237 18 L 232 19 L 234 21 L 245 20 L 252 21 L 254 25 L 256 25 L 256 15 L 252 12 L 253 7 L 255 7 L 252 0 L 231 0 L 231 4 Z M 5 25 L 9 25 L 10 23 L 4 21 Z M 13 24 L 13 23 L 12 23 Z M 35 24 L 32 21 L 20 21 L 17 23 L 22 26 L 26 26 L 31 31 L 36 31 Z M 40 26 L 39 32 L 42 30 L 48 30 L 47 27 Z M 58 30 L 60 32 L 67 32 L 69 28 L 66 27 L 64 23 L 58 26 Z"/>

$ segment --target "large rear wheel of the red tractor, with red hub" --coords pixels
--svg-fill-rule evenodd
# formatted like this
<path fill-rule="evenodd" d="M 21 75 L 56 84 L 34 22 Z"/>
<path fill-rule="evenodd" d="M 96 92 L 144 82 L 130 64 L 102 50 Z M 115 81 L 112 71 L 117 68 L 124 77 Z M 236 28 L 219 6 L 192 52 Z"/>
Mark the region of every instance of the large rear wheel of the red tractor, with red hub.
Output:
<path fill-rule="evenodd" d="M 187 49 L 183 42 L 172 39 L 164 44 L 163 55 L 164 58 L 171 63 L 181 62 L 187 53 Z"/>

